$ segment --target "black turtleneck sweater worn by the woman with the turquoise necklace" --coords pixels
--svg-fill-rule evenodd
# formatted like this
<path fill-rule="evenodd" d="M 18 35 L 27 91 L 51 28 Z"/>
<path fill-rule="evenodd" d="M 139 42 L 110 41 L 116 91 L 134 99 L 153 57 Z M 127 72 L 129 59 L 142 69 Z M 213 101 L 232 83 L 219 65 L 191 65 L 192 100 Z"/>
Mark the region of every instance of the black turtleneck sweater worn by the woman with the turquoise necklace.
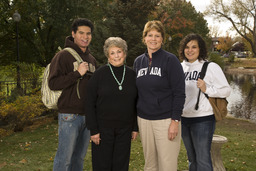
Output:
<path fill-rule="evenodd" d="M 124 67 L 112 66 L 112 69 L 121 82 Z M 138 130 L 135 82 L 136 74 L 127 66 L 122 90 L 119 90 L 108 65 L 102 66 L 93 74 L 86 97 L 86 123 L 91 135 L 99 133 L 99 128 L 133 127 L 133 131 Z"/>

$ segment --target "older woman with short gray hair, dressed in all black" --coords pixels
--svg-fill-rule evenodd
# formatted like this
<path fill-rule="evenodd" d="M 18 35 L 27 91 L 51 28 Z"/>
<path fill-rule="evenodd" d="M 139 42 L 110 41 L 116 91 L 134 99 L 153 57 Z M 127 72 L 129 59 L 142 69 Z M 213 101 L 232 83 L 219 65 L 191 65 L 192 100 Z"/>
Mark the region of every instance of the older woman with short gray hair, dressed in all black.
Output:
<path fill-rule="evenodd" d="M 136 75 L 125 66 L 127 44 L 119 37 L 105 41 L 108 64 L 88 84 L 87 125 L 91 131 L 94 171 L 128 171 L 131 139 L 137 136 Z"/>

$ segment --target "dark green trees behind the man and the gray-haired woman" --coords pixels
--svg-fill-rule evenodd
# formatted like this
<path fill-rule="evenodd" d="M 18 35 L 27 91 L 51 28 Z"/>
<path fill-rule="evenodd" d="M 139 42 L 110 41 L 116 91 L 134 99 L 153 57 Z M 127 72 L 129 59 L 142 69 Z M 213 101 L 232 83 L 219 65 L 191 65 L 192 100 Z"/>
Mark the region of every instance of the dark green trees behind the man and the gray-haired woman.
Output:
<path fill-rule="evenodd" d="M 63 47 L 71 34 L 74 18 L 89 18 L 94 22 L 95 32 L 90 46 L 92 54 L 100 63 L 106 62 L 103 44 L 110 36 L 127 41 L 128 65 L 144 52 L 141 35 L 144 24 L 159 0 L 2 0 L 0 1 L 0 62 L 9 65 L 16 62 L 15 10 L 21 15 L 19 41 L 21 62 L 46 66 Z M 3 23 L 3 25 L 2 25 Z M 6 43 L 8 42 L 8 43 Z M 4 52 L 4 53 L 3 53 Z"/>

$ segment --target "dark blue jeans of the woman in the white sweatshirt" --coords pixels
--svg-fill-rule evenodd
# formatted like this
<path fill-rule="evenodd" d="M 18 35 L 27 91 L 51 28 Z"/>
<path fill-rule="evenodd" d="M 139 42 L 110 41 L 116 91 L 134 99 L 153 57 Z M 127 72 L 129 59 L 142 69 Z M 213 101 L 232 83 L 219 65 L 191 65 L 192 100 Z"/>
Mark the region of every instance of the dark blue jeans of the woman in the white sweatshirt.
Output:
<path fill-rule="evenodd" d="M 215 120 L 182 124 L 182 139 L 187 150 L 189 171 L 212 171 L 211 144 Z"/>

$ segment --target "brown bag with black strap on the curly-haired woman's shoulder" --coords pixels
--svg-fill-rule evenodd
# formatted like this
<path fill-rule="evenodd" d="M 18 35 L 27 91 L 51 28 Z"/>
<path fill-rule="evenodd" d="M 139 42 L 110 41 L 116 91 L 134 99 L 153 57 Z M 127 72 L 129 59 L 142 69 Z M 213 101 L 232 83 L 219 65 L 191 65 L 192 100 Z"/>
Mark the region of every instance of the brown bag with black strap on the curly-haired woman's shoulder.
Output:
<path fill-rule="evenodd" d="M 203 64 L 202 70 L 200 72 L 200 79 L 203 79 L 207 70 L 207 66 L 210 62 L 205 62 Z M 197 97 L 197 103 L 195 106 L 195 110 L 198 109 L 198 104 L 199 104 L 199 98 L 200 98 L 201 90 L 199 89 L 198 97 Z M 205 93 L 204 93 L 205 94 Z M 228 106 L 228 101 L 226 98 L 218 98 L 218 97 L 209 97 L 207 94 L 205 96 L 208 98 L 212 109 L 213 113 L 215 116 L 216 121 L 223 120 L 228 113 L 227 106 Z"/>

